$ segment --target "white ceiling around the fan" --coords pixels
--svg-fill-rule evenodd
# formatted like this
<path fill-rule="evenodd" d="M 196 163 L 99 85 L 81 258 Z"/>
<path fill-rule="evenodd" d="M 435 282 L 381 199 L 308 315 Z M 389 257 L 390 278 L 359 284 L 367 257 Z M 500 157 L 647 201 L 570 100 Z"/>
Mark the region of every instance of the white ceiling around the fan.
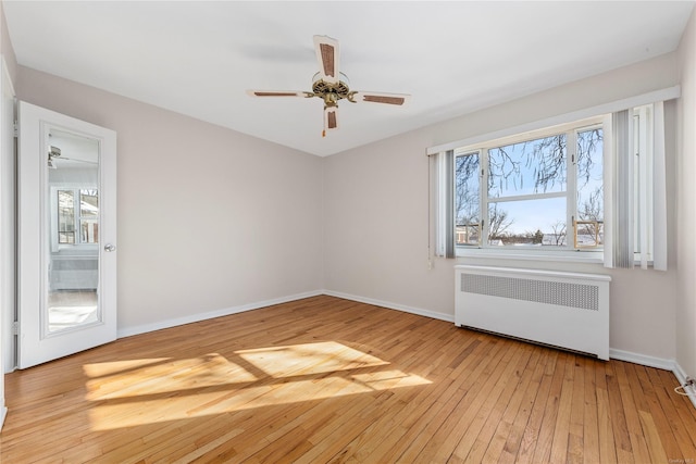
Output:
<path fill-rule="evenodd" d="M 21 65 L 330 155 L 676 49 L 694 1 L 3 1 Z M 313 35 L 352 90 L 322 138 Z"/>

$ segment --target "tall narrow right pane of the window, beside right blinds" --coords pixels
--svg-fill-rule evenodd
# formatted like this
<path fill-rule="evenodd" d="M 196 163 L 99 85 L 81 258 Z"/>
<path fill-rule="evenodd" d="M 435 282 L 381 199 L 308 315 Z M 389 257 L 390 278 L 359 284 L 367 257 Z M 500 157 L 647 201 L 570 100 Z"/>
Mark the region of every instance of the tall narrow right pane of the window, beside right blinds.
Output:
<path fill-rule="evenodd" d="M 604 134 L 601 128 L 577 133 L 577 224 L 579 247 L 604 243 Z"/>

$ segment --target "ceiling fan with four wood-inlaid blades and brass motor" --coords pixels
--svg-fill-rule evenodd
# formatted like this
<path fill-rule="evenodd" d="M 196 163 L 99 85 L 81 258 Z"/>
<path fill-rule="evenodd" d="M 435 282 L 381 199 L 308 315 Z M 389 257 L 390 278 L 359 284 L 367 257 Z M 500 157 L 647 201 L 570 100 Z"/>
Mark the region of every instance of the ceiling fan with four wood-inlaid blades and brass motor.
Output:
<path fill-rule="evenodd" d="M 321 98 L 324 100 L 324 130 L 338 128 L 338 101 L 348 100 L 351 103 L 366 101 L 370 103 L 386 103 L 402 105 L 410 98 L 405 93 L 366 92 L 350 90 L 348 76 L 339 72 L 338 40 L 327 36 L 314 36 L 314 50 L 319 61 L 319 73 L 312 78 L 312 91 L 273 91 L 247 90 L 251 97 L 303 97 Z"/>

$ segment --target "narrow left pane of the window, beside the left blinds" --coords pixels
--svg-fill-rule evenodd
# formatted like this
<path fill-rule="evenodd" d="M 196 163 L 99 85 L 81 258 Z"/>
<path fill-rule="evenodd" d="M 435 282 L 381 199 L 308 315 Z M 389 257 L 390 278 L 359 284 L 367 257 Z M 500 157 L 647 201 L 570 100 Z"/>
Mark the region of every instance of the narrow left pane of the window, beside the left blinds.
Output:
<path fill-rule="evenodd" d="M 457 244 L 478 244 L 481 176 L 478 152 L 455 158 L 455 226 Z"/>

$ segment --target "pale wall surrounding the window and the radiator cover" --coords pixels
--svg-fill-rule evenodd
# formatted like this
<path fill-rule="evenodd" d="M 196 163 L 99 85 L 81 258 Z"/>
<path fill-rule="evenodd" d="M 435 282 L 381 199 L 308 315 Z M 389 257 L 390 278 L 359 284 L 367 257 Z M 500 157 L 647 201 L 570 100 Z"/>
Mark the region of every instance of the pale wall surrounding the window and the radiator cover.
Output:
<path fill-rule="evenodd" d="M 327 158 L 324 167 L 326 289 L 451 319 L 452 266 L 462 260 L 435 260 L 433 269 L 427 268 L 426 148 L 678 83 L 678 61 L 672 53 Z M 667 106 L 666 117 L 673 123 L 675 105 Z M 674 127 L 670 129 L 668 172 L 674 176 L 675 131 Z M 670 183 L 670 188 L 668 201 L 673 210 L 674 183 Z M 673 214 L 669 221 L 668 233 L 674 238 Z M 675 252 L 675 240 L 671 240 L 671 267 L 667 273 L 609 271 L 587 264 L 492 263 L 473 259 L 467 262 L 611 274 L 611 348 L 673 360 L 676 354 Z"/>

